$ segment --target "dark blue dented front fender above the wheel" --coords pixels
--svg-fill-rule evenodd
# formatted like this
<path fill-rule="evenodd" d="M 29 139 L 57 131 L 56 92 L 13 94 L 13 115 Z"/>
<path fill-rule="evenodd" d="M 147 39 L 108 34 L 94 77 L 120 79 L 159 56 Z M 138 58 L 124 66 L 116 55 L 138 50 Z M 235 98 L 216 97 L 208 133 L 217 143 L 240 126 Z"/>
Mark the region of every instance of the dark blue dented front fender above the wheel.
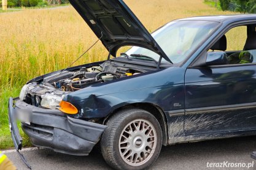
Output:
<path fill-rule="evenodd" d="M 72 92 L 64 100 L 79 109 L 74 117 L 107 117 L 131 103 L 152 103 L 163 111 L 184 108 L 184 73 L 180 67 L 121 78 Z M 179 103 L 179 106 L 174 106 Z"/>

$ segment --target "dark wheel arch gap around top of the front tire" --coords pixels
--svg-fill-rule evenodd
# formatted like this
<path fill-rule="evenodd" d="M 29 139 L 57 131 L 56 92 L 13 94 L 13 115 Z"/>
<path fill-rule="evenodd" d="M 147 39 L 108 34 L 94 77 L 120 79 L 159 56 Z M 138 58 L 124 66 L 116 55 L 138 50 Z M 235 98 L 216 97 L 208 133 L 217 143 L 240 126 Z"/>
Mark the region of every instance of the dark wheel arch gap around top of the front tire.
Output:
<path fill-rule="evenodd" d="M 145 111 L 148 111 L 150 114 L 155 116 L 156 119 L 158 120 L 160 126 L 161 126 L 161 130 L 162 130 L 162 133 L 163 133 L 163 135 L 162 135 L 163 136 L 163 146 L 167 146 L 167 144 L 168 144 L 168 127 L 167 127 L 168 124 L 167 124 L 167 119 L 166 119 L 165 113 L 160 108 L 160 106 L 154 105 L 152 103 L 131 103 L 131 104 L 128 104 L 128 105 L 123 105 L 123 106 L 120 106 L 118 108 L 115 108 L 103 120 L 103 125 L 105 125 L 107 120 L 109 120 L 109 118 L 111 116 L 113 116 L 115 113 L 117 113 L 118 111 L 120 111 L 122 109 L 129 109 L 129 108 L 144 109 Z"/>

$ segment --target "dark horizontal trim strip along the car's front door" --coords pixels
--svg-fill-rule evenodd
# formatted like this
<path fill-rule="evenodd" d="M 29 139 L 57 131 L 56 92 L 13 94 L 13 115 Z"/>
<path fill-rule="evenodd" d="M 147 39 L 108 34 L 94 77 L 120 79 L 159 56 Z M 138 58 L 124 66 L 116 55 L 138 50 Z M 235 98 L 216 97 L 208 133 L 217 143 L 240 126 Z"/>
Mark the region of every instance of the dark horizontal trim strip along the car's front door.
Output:
<path fill-rule="evenodd" d="M 249 109 L 256 108 L 256 102 L 242 103 L 236 105 L 225 105 L 225 106 L 209 106 L 203 108 L 191 108 L 185 109 L 185 114 L 203 114 L 203 113 L 216 113 L 220 111 L 232 111 L 238 109 Z"/>

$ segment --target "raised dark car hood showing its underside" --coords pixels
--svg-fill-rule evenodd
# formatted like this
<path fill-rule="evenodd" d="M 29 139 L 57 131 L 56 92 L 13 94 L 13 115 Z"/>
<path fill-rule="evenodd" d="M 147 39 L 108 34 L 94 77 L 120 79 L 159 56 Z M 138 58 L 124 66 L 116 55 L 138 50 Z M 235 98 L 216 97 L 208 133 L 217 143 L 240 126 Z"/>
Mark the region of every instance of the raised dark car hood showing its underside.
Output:
<path fill-rule="evenodd" d="M 135 45 L 148 48 L 170 61 L 142 23 L 122 0 L 69 0 L 95 32 L 101 42 L 116 56 L 118 48 Z M 135 1 L 134 1 L 135 2 Z"/>

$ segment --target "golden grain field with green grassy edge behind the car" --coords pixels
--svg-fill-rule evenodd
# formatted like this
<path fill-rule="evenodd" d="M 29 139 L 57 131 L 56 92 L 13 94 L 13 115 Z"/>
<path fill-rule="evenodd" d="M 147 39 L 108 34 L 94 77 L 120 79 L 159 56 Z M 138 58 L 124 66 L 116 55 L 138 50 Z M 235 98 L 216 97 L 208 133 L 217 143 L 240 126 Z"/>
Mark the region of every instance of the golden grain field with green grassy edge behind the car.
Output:
<path fill-rule="evenodd" d="M 198 15 L 230 14 L 203 0 L 125 1 L 150 32 L 168 21 Z M 0 149 L 12 147 L 7 99 L 17 97 L 31 78 L 65 68 L 96 41 L 71 6 L 55 10 L 24 10 L 0 14 Z M 107 58 L 99 42 L 75 65 Z M 25 137 L 25 146 L 29 145 Z"/>

